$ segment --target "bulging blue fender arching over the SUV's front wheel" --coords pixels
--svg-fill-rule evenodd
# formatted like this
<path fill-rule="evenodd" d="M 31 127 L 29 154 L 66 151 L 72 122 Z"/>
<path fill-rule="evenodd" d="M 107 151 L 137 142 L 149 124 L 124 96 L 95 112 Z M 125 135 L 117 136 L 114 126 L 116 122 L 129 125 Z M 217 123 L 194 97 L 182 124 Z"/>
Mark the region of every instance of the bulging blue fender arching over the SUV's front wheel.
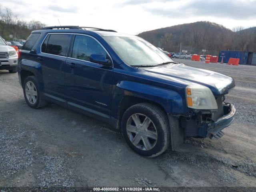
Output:
<path fill-rule="evenodd" d="M 186 112 L 182 97 L 180 94 L 173 90 L 159 88 L 149 84 L 123 80 L 116 84 L 113 93 L 112 115 L 114 118 L 118 118 L 117 113 L 119 102 L 124 96 L 134 96 L 157 102 L 164 108 L 166 113 L 181 114 Z"/>

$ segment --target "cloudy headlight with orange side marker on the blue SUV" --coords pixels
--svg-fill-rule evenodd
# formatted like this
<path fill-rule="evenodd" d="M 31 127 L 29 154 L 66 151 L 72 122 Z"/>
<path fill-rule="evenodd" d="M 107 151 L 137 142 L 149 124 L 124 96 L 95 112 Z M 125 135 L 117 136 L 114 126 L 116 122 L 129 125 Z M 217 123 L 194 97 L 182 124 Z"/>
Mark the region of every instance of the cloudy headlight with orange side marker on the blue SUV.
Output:
<path fill-rule="evenodd" d="M 202 85 L 189 85 L 186 87 L 187 104 L 193 109 L 218 109 L 212 91 Z"/>

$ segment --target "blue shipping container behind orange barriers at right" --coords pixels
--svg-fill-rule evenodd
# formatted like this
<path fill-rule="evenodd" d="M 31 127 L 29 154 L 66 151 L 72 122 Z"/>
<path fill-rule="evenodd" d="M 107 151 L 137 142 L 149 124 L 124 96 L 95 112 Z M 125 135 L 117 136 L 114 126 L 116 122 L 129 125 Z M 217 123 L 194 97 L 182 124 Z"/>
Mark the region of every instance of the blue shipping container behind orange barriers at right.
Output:
<path fill-rule="evenodd" d="M 239 64 L 246 64 L 248 51 L 220 51 L 218 62 L 223 58 L 224 63 L 228 63 L 229 58 L 239 58 Z"/>

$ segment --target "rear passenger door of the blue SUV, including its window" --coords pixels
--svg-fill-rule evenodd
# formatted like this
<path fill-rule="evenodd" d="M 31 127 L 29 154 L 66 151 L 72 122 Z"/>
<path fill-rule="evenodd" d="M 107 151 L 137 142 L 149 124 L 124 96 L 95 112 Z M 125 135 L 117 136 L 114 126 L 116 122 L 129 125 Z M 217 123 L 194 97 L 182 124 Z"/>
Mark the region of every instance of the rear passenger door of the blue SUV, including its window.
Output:
<path fill-rule="evenodd" d="M 72 34 L 48 34 L 42 43 L 42 81 L 46 96 L 59 100 L 65 98 L 64 67 Z"/>

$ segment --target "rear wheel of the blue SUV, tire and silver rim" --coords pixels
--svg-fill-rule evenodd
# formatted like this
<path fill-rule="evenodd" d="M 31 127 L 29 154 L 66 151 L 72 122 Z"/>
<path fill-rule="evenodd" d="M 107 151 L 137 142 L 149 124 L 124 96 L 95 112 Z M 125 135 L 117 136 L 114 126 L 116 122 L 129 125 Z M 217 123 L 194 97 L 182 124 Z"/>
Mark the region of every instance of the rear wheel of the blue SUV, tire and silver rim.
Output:
<path fill-rule="evenodd" d="M 26 86 L 27 83 L 30 84 L 31 87 L 33 87 L 33 85 L 34 85 L 34 88 L 35 88 L 35 89 L 32 88 L 32 89 L 31 89 L 32 91 L 29 91 L 29 90 L 28 90 L 28 86 Z M 42 107 L 44 107 L 44 106 L 47 105 L 47 101 L 46 101 L 46 100 L 43 100 L 43 99 L 41 98 L 41 96 L 40 96 L 38 82 L 36 81 L 36 78 L 35 78 L 34 76 L 28 76 L 28 77 L 26 77 L 26 79 L 25 79 L 24 82 L 23 82 L 22 88 L 23 88 L 24 98 L 25 98 L 27 104 L 28 104 L 31 108 L 34 108 L 34 109 L 36 109 L 36 108 L 42 108 Z M 34 95 L 35 100 L 32 98 L 32 100 L 33 100 L 34 102 L 32 102 L 32 100 L 31 100 L 31 101 L 29 100 L 30 97 L 32 97 L 32 96 L 30 96 L 30 97 L 28 98 L 28 96 L 26 95 L 26 94 L 28 94 L 28 93 L 31 93 L 31 94 L 32 94 L 32 92 L 34 92 L 34 94 L 36 94 L 36 96 Z M 30 94 L 30 95 L 31 95 L 31 94 Z M 29 95 L 29 94 L 28 94 L 28 95 Z"/>

